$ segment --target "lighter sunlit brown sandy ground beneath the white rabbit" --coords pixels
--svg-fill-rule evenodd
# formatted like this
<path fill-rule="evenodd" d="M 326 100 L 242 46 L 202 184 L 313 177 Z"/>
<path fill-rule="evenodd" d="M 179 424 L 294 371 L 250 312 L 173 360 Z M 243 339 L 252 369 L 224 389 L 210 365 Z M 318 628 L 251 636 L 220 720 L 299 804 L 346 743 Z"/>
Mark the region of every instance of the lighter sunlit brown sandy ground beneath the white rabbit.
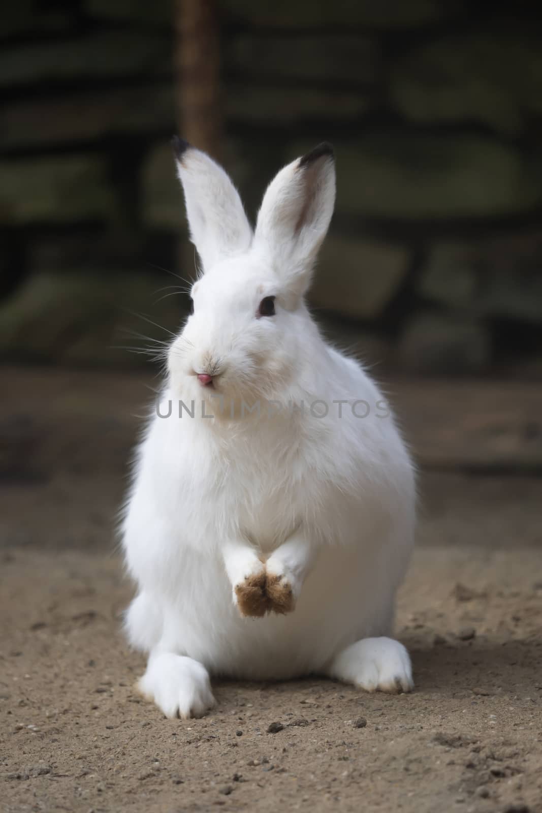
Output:
<path fill-rule="evenodd" d="M 218 682 L 211 715 L 171 721 L 132 689 L 119 561 L 6 550 L 2 810 L 540 811 L 541 563 L 418 550 L 398 623 L 410 695 Z"/>

